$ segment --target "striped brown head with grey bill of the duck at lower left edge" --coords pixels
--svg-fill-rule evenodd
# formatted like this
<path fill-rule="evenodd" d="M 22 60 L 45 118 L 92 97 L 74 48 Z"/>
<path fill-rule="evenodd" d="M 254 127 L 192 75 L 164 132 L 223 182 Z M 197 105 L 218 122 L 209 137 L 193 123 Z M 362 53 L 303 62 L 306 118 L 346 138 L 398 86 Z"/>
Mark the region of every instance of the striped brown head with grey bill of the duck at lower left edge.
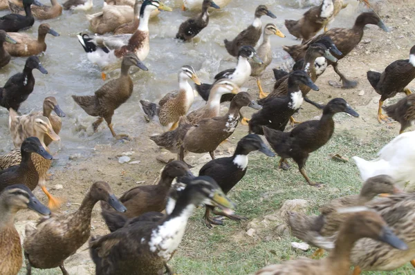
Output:
<path fill-rule="evenodd" d="M 44 216 L 50 215 L 48 207 L 42 205 L 24 184 L 13 184 L 6 187 L 0 194 L 0 201 L 7 205 L 12 213 L 16 213 L 20 209 L 30 209 Z"/>

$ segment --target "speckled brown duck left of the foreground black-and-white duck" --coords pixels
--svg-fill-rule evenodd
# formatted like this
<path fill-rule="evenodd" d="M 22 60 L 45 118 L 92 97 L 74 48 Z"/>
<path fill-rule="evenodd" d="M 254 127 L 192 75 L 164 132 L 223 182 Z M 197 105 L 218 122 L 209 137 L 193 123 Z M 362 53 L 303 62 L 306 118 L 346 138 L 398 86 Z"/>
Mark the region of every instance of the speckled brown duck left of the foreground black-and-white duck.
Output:
<path fill-rule="evenodd" d="M 100 200 L 108 202 L 117 211 L 127 210 L 113 195 L 107 182 L 95 182 L 86 193 L 80 208 L 74 213 L 53 214 L 50 218 L 39 220 L 35 228 L 26 226 L 23 248 L 28 274 L 32 267 L 59 267 L 62 274 L 68 274 L 64 260 L 75 254 L 89 239 L 92 209 Z"/>

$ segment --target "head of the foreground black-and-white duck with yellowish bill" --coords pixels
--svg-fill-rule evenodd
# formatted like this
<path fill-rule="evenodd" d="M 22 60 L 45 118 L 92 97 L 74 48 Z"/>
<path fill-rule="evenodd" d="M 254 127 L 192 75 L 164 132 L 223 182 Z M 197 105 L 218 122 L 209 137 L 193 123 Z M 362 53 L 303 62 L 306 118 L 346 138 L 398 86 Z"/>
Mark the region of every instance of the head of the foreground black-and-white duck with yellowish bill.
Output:
<path fill-rule="evenodd" d="M 222 209 L 225 214 L 234 213 L 235 205 L 232 200 L 227 198 L 221 187 L 208 176 L 200 176 L 191 180 L 183 193 L 190 196 L 192 205 L 212 205 Z"/>

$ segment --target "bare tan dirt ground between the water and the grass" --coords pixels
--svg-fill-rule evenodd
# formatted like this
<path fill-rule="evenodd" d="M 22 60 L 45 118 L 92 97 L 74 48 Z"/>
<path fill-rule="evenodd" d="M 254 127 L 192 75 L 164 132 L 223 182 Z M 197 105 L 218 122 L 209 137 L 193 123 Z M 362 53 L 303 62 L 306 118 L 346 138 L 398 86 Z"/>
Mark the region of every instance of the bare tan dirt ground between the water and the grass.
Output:
<path fill-rule="evenodd" d="M 399 125 L 396 123 L 379 124 L 376 120 L 376 111 L 379 96 L 371 88 L 366 78 L 367 70 L 382 71 L 391 61 L 396 59 L 407 59 L 409 48 L 415 43 L 415 23 L 413 11 L 415 1 L 409 0 L 387 0 L 379 1 L 374 7 L 380 14 L 385 24 L 391 32 L 382 32 L 377 26 L 369 26 L 365 29 L 365 35 L 361 43 L 346 58 L 340 61 L 340 70 L 349 77 L 359 82 L 356 88 L 344 90 L 333 88 L 328 84 L 329 80 L 338 80 L 332 68 L 328 68 L 324 75 L 320 77 L 316 84 L 320 91 L 309 93 L 309 97 L 317 102 L 325 103 L 334 97 L 343 97 L 347 102 L 360 113 L 364 124 L 354 124 L 353 121 L 338 126 L 340 129 L 348 129 L 353 134 L 360 135 L 360 138 L 369 136 L 369 130 L 387 129 L 390 135 L 398 133 Z M 347 27 L 347 26 L 344 26 Z M 284 32 L 285 29 L 282 29 Z M 285 30 L 286 31 L 286 30 Z M 270 91 L 274 84 L 271 68 L 268 68 L 263 77 L 263 87 Z M 257 96 L 257 86 L 255 79 L 250 79 L 246 84 L 251 95 Z M 409 85 L 415 88 L 415 84 Z M 398 95 L 396 99 L 403 97 Z M 386 104 L 390 104 L 390 102 Z M 304 103 L 302 110 L 296 116 L 297 120 L 304 121 L 313 119 L 320 115 L 313 106 Z M 243 110 L 243 113 L 250 115 L 250 110 Z M 65 122 L 63 122 L 65 124 Z M 65 126 L 65 125 L 63 125 Z M 153 184 L 163 169 L 164 164 L 156 160 L 156 156 L 163 154 L 158 147 L 147 138 L 148 135 L 158 132 L 155 124 L 145 125 L 145 134 L 133 137 L 129 142 L 113 141 L 109 144 L 97 144 L 91 148 L 88 157 L 83 155 L 73 155 L 66 162 L 64 167 L 52 167 L 53 178 L 48 182 L 48 187 L 55 196 L 66 198 L 66 203 L 57 210 L 58 213 L 68 213 L 75 211 L 86 191 L 91 184 L 98 180 L 104 180 L 111 184 L 114 193 L 120 195 L 137 184 Z M 246 135 L 247 127 L 240 125 L 230 138 L 230 142 L 220 146 L 217 153 L 229 154 L 241 136 Z M 122 153 L 131 154 L 131 161 L 139 160 L 138 164 L 119 164 L 118 156 Z M 59 158 L 59 153 L 57 153 Z M 198 164 L 207 161 L 201 155 L 190 154 L 187 162 Z M 63 189 L 55 190 L 57 184 L 62 184 Z M 40 189 L 35 190 L 35 194 L 43 202 L 46 202 Z M 18 225 L 24 225 L 26 220 L 35 220 L 35 214 L 24 211 L 17 216 Z M 93 210 L 91 221 L 92 234 L 102 235 L 107 233 L 107 228 L 100 217 L 100 207 Z M 94 269 L 91 261 L 87 258 L 88 253 L 80 249 L 80 254 L 75 254 L 67 260 L 66 265 L 71 274 L 92 274 Z M 35 274 L 55 274 L 38 271 Z M 56 271 L 57 274 L 59 272 Z"/>

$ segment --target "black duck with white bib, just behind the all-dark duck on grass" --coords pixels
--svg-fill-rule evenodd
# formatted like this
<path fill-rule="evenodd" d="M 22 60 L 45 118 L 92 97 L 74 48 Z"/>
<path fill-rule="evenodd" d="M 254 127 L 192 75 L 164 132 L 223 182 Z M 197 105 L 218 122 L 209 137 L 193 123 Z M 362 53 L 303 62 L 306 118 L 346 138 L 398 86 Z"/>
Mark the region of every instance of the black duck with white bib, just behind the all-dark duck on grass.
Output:
<path fill-rule="evenodd" d="M 273 97 L 262 105 L 261 110 L 252 115 L 248 122 L 249 133 L 264 135 L 262 126 L 284 131 L 290 117 L 299 109 L 303 102 L 300 86 L 305 85 L 314 91 L 319 88 L 313 83 L 305 70 L 295 70 L 288 76 L 288 94 Z"/>

